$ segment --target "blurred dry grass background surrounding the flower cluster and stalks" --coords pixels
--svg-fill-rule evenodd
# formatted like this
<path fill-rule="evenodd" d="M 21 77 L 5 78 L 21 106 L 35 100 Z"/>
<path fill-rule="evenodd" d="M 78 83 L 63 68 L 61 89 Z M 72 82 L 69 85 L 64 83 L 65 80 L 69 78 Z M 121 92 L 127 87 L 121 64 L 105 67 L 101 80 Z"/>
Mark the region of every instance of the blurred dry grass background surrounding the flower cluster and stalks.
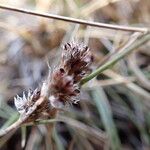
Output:
<path fill-rule="evenodd" d="M 0 0 L 0 4 L 84 20 L 150 27 L 149 0 Z M 13 98 L 40 87 L 59 64 L 62 45 L 88 45 L 93 70 L 136 34 L 0 10 L 0 126 L 16 116 Z M 149 150 L 150 43 L 83 86 L 78 104 L 60 112 L 47 138 L 45 125 L 22 127 L 0 140 L 2 150 Z"/>

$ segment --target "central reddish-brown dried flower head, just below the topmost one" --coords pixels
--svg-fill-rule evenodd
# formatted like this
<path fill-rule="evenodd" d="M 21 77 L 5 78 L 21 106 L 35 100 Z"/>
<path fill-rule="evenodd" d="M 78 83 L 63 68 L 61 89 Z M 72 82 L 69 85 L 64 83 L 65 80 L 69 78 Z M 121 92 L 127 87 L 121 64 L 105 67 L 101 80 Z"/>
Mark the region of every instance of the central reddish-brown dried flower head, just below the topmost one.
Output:
<path fill-rule="evenodd" d="M 75 102 L 80 90 L 73 77 L 67 75 L 63 68 L 55 70 L 50 83 L 51 95 L 59 102 Z"/>

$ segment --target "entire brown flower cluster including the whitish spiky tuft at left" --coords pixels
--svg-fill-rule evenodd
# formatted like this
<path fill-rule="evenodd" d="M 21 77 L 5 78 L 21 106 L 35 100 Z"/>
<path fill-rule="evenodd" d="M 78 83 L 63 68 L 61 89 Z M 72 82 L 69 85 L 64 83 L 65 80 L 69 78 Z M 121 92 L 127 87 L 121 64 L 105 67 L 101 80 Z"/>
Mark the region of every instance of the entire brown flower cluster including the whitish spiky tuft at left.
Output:
<path fill-rule="evenodd" d="M 38 118 L 42 114 L 66 104 L 79 101 L 79 82 L 91 69 L 92 55 L 87 46 L 77 43 L 67 43 L 63 47 L 61 62 L 50 78 L 43 83 L 41 90 L 29 91 L 28 96 L 15 97 L 15 106 L 20 114 L 32 114 Z M 34 110 L 34 105 L 44 97 L 44 102 Z M 33 111 L 34 110 L 34 111 Z M 33 113 L 34 112 L 34 113 Z"/>

